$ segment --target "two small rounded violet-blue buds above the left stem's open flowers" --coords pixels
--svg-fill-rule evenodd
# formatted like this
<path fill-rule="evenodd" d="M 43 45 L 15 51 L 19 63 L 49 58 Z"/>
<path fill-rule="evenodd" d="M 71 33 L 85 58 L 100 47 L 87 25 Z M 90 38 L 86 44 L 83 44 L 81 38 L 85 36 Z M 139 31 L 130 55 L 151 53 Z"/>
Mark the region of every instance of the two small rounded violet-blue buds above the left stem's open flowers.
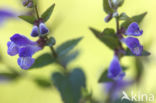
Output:
<path fill-rule="evenodd" d="M 39 23 L 39 27 L 37 25 L 34 25 L 31 36 L 36 37 L 36 36 L 43 36 L 44 34 L 47 34 L 49 32 L 48 28 L 46 25 L 41 22 Z"/>

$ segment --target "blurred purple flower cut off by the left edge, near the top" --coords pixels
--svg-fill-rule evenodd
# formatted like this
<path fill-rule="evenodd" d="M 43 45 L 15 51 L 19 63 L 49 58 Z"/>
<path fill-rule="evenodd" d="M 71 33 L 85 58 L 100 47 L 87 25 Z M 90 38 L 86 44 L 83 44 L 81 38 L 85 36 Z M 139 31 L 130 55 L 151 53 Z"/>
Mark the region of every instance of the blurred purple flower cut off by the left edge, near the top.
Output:
<path fill-rule="evenodd" d="M 9 18 L 16 17 L 16 14 L 11 10 L 0 9 L 0 24 Z"/>

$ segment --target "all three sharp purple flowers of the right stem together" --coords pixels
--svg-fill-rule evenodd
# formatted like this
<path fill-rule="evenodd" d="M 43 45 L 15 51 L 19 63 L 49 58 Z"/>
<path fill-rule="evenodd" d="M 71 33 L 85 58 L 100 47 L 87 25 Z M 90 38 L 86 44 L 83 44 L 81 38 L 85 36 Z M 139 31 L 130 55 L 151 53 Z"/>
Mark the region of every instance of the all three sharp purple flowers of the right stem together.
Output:
<path fill-rule="evenodd" d="M 137 23 L 133 22 L 129 25 L 128 29 L 124 33 L 126 38 L 121 38 L 121 41 L 125 43 L 131 52 L 136 56 L 141 56 L 143 51 L 143 46 L 140 45 L 139 40 L 132 36 L 140 36 L 143 34 L 143 31 L 140 30 Z M 122 71 L 122 67 L 120 66 L 119 57 L 115 54 L 109 69 L 108 69 L 108 77 L 113 80 L 121 80 L 124 77 L 125 73 Z"/>

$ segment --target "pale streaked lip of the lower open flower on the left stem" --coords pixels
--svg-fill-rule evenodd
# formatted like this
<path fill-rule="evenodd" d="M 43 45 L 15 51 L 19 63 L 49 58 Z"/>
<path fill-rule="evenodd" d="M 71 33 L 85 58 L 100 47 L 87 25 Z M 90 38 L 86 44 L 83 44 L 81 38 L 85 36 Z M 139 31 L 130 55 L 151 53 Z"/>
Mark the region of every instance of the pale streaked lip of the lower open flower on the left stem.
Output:
<path fill-rule="evenodd" d="M 31 58 L 31 57 L 19 57 L 18 58 L 18 65 L 22 68 L 22 69 L 29 69 L 32 64 L 35 62 L 35 59 Z"/>

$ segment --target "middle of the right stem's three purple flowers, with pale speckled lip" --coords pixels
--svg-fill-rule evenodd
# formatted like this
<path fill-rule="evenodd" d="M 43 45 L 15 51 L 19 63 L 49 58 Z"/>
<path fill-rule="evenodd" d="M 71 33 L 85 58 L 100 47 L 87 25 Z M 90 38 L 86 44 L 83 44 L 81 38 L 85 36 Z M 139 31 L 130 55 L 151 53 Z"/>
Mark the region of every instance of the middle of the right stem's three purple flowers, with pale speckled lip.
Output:
<path fill-rule="evenodd" d="M 130 51 L 136 56 L 142 55 L 143 46 L 140 45 L 139 40 L 137 38 L 127 37 L 122 39 L 122 42 L 124 42 L 130 49 Z"/>

